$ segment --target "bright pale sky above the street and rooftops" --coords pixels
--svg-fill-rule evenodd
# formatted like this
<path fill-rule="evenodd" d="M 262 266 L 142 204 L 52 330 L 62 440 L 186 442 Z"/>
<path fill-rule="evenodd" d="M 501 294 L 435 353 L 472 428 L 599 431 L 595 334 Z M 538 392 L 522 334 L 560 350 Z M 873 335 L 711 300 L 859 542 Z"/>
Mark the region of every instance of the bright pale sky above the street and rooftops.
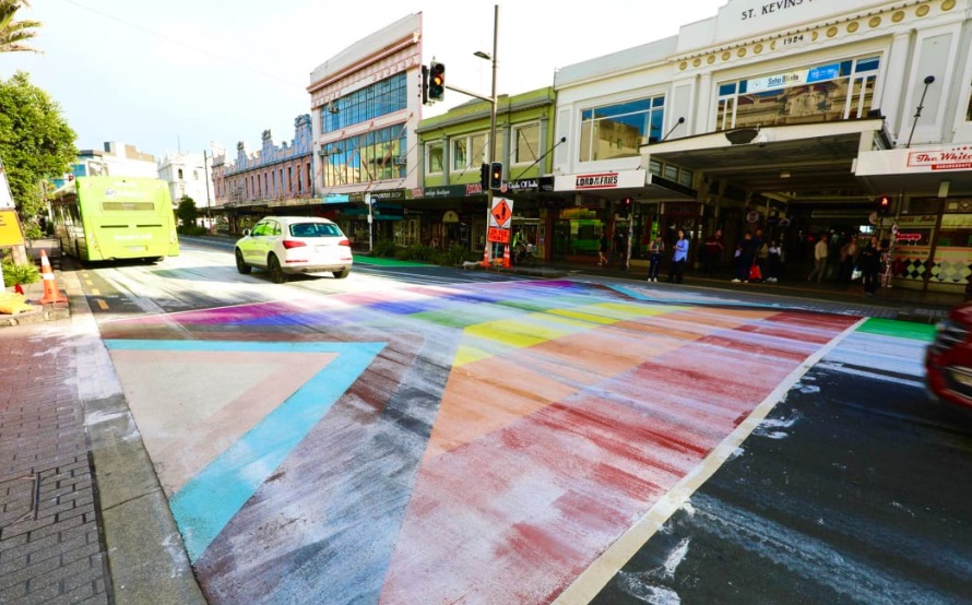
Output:
<path fill-rule="evenodd" d="M 497 92 L 553 84 L 557 69 L 675 36 L 714 17 L 728 0 L 518 0 L 499 3 Z M 80 150 L 106 141 L 161 158 L 212 144 L 260 149 L 294 138 L 310 112 L 310 73 L 357 40 L 422 13 L 423 62 L 447 66 L 449 83 L 489 95 L 490 0 L 31 0 L 17 20 L 42 22 L 32 46 L 0 54 L 0 79 L 16 71 L 59 104 Z M 447 91 L 435 116 L 470 97 Z M 235 152 L 233 152 L 235 153 Z"/>

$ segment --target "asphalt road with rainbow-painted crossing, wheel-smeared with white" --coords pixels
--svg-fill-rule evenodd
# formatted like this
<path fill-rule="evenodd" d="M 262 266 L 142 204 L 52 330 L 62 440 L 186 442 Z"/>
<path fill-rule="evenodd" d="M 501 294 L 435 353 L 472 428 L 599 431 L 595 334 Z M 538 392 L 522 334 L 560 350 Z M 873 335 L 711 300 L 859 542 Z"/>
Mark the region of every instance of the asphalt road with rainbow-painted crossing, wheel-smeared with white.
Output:
<path fill-rule="evenodd" d="M 211 603 L 961 603 L 928 327 L 183 246 L 83 275 Z M 766 417 L 766 419 L 763 419 Z"/>

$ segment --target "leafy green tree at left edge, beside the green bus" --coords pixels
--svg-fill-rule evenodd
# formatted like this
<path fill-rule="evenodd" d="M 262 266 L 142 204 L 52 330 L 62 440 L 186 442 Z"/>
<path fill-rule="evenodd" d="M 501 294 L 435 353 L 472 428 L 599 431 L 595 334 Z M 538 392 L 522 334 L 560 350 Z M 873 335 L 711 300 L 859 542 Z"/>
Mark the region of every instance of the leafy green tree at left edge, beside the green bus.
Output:
<path fill-rule="evenodd" d="M 25 223 L 33 222 L 45 203 L 42 181 L 70 170 L 76 138 L 60 106 L 26 73 L 0 80 L 0 159 Z"/>

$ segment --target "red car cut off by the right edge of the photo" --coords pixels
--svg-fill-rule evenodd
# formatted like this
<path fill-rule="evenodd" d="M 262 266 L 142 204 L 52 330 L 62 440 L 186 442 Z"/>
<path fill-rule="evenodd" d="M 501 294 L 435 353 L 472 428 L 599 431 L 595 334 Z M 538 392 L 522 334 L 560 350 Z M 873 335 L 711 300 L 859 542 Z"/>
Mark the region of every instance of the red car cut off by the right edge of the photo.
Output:
<path fill-rule="evenodd" d="M 925 352 L 925 387 L 947 411 L 972 418 L 972 301 L 938 324 Z"/>

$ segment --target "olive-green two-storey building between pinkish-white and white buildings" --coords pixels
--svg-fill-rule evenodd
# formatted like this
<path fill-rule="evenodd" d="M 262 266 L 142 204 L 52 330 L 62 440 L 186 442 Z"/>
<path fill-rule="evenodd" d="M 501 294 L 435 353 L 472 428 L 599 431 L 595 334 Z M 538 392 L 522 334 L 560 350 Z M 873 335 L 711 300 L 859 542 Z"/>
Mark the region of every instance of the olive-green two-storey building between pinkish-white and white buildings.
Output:
<path fill-rule="evenodd" d="M 418 127 L 423 182 L 411 192 L 403 230 L 423 244 L 482 251 L 489 209 L 481 169 L 495 159 L 503 165 L 506 189 L 496 194 L 513 203 L 512 230 L 537 246 L 541 258 L 549 258 L 554 106 L 550 87 L 499 96 L 495 158 L 489 141 L 491 103 L 466 103 L 423 120 Z M 491 254 L 497 257 L 502 257 L 501 250 Z"/>

